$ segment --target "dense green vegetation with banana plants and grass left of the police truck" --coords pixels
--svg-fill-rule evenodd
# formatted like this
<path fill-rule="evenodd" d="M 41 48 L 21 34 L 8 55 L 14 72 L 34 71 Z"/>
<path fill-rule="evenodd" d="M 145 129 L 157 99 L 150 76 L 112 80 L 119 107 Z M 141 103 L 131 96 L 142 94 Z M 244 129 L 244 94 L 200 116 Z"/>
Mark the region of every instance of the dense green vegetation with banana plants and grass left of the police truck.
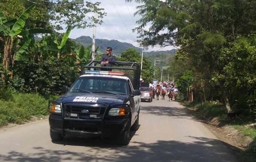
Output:
<path fill-rule="evenodd" d="M 101 23 L 105 13 L 98 6 L 83 0 L 0 0 L 0 126 L 46 115 L 47 100 L 74 82 L 90 60 L 91 46 L 77 44 L 69 33 Z M 98 16 L 87 15 L 93 12 Z M 65 33 L 58 33 L 62 28 Z"/>

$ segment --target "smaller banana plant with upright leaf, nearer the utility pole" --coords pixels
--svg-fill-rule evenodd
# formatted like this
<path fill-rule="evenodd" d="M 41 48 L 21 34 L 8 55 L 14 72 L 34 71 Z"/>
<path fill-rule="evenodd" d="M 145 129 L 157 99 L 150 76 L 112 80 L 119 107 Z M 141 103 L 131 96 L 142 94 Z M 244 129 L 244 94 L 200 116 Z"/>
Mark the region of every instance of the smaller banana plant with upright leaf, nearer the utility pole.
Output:
<path fill-rule="evenodd" d="M 68 29 L 64 33 L 64 36 L 62 37 L 60 43 L 57 41 L 56 36 L 53 35 L 53 43 L 54 43 L 54 45 L 52 45 L 52 46 L 42 46 L 42 49 L 43 50 L 57 52 L 57 58 L 60 59 L 60 55 L 61 55 L 60 51 L 65 46 L 67 40 L 69 39 L 69 34 L 70 34 L 71 30 L 72 30 L 72 28 L 68 27 Z"/>

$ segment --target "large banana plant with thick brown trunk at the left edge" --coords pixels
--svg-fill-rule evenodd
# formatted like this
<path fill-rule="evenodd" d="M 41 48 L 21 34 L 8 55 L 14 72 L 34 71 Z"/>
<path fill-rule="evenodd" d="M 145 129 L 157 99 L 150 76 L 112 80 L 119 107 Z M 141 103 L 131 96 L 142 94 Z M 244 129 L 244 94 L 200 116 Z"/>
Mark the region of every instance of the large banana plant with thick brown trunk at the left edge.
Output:
<path fill-rule="evenodd" d="M 51 33 L 50 30 L 45 29 L 28 29 L 24 31 L 26 20 L 34 8 L 35 5 L 30 6 L 20 15 L 17 20 L 14 19 L 10 21 L 8 21 L 0 9 L 0 33 L 2 35 L 1 40 L 4 42 L 3 67 L 6 71 L 9 70 L 10 60 L 12 60 L 12 67 L 14 66 L 14 60 L 27 60 L 22 57 L 22 54 L 26 52 L 26 49 L 29 47 L 31 43 L 29 37 L 32 34 L 45 32 Z M 24 44 L 19 45 L 19 42 L 21 41 L 18 40 L 24 38 L 25 41 L 22 41 Z M 14 52 L 13 48 L 15 48 L 17 52 Z"/>

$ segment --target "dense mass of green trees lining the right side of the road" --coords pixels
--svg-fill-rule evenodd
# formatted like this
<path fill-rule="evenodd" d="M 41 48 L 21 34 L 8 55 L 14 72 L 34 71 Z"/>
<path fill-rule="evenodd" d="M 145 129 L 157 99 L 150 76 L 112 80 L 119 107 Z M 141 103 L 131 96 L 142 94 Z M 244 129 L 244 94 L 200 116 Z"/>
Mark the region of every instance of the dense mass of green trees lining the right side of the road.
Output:
<path fill-rule="evenodd" d="M 140 44 L 179 46 L 169 73 L 187 100 L 218 100 L 255 117 L 256 1 L 135 1 Z"/>

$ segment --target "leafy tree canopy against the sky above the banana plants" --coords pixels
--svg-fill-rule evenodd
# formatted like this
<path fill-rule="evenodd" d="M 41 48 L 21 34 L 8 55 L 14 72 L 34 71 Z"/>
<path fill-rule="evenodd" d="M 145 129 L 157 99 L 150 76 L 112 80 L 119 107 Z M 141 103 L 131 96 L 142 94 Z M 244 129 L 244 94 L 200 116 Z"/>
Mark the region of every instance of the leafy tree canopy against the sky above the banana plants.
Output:
<path fill-rule="evenodd" d="M 51 28 L 62 30 L 66 26 L 86 28 L 102 23 L 104 9 L 100 3 L 85 2 L 84 0 L 1 0 L 0 8 L 6 17 L 17 19 L 25 8 L 35 5 L 36 8 L 27 19 L 29 28 Z M 13 6 L 16 9 L 13 10 Z M 97 13 L 97 17 L 89 16 Z"/>

